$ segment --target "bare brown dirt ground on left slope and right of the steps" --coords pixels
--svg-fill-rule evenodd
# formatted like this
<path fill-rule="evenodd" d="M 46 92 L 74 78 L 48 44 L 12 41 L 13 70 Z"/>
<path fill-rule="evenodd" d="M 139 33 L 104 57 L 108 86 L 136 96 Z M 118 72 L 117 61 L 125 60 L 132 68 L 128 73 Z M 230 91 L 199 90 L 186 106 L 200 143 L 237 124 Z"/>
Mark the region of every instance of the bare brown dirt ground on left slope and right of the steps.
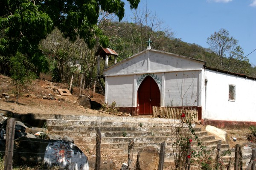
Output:
<path fill-rule="evenodd" d="M 48 80 L 37 79 L 32 81 L 31 85 L 20 89 L 20 97 L 18 103 L 14 97 L 5 99 L 3 93 L 15 94 L 15 86 L 12 85 L 12 79 L 0 74 L 0 109 L 12 111 L 13 113 L 40 113 L 40 114 L 74 114 L 74 115 L 102 115 L 113 116 L 106 113 L 99 113 L 97 110 L 80 107 L 77 103 L 79 88 L 73 87 L 72 95 L 59 95 L 58 88 L 69 88 L 67 84 L 55 83 Z M 37 97 L 32 98 L 32 95 Z M 83 90 L 82 94 L 89 96 L 90 99 L 99 104 L 104 103 L 104 96 L 95 94 L 92 91 Z M 29 96 L 30 95 L 30 96 Z M 43 99 L 42 96 L 52 96 L 55 99 Z M 230 148 L 234 148 L 236 144 L 248 142 L 246 133 L 250 133 L 249 129 L 223 129 L 228 134 L 228 142 Z M 234 142 L 232 137 L 236 137 Z M 83 149 L 81 149 L 83 150 Z M 85 154 L 87 151 L 83 150 Z M 120 165 L 121 162 L 116 162 Z"/>

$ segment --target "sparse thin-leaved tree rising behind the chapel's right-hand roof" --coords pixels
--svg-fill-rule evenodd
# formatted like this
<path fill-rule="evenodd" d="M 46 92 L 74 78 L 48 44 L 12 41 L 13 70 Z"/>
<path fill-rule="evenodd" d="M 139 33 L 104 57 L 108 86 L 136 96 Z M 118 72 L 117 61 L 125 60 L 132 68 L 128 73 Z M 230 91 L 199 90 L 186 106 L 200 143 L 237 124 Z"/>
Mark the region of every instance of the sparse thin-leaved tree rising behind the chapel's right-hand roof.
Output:
<path fill-rule="evenodd" d="M 214 32 L 207 39 L 207 43 L 217 56 L 216 68 L 242 74 L 247 73 L 248 66 L 250 66 L 249 60 L 244 57 L 238 40 L 230 37 L 227 30 L 221 28 L 218 32 Z"/>

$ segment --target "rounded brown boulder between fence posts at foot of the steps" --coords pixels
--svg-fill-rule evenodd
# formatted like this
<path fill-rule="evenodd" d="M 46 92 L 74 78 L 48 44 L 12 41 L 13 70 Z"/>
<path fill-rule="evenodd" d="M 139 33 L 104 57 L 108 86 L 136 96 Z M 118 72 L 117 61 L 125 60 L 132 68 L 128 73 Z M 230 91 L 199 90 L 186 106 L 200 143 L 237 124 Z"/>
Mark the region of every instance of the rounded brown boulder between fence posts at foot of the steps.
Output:
<path fill-rule="evenodd" d="M 143 147 L 138 153 L 136 170 L 157 170 L 159 152 L 152 146 Z"/>

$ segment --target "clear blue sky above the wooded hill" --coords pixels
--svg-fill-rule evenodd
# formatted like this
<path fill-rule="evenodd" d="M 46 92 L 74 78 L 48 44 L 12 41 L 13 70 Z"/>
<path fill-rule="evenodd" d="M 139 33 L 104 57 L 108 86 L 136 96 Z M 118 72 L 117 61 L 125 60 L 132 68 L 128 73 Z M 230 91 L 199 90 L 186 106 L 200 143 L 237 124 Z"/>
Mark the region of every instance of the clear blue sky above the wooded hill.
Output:
<path fill-rule="evenodd" d="M 256 0 L 141 0 L 138 9 L 146 6 L 184 42 L 209 48 L 207 38 L 224 28 L 239 41 L 244 56 L 256 49 Z M 130 16 L 126 2 L 125 18 Z M 256 51 L 247 57 L 256 65 Z"/>

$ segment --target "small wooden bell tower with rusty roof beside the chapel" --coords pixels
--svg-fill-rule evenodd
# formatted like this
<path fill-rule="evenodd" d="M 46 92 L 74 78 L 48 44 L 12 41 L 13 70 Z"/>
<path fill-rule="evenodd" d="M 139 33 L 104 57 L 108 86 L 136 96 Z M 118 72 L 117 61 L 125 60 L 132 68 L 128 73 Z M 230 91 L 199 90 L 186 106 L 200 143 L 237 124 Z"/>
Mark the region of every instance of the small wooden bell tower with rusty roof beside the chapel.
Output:
<path fill-rule="evenodd" d="M 105 80 L 105 77 L 103 75 L 100 75 L 100 59 L 101 57 L 105 60 L 105 66 L 104 69 L 108 68 L 108 60 L 110 59 L 110 56 L 114 56 L 114 63 L 116 64 L 116 57 L 118 56 L 118 54 L 116 53 L 116 51 L 110 49 L 110 48 L 102 48 L 99 47 L 98 50 L 95 53 L 95 56 L 97 57 L 97 62 L 98 62 L 98 67 L 97 67 L 97 78 L 99 81 L 99 84 L 102 87 L 102 90 L 105 92 L 105 87 L 101 82 L 101 78 Z"/>

